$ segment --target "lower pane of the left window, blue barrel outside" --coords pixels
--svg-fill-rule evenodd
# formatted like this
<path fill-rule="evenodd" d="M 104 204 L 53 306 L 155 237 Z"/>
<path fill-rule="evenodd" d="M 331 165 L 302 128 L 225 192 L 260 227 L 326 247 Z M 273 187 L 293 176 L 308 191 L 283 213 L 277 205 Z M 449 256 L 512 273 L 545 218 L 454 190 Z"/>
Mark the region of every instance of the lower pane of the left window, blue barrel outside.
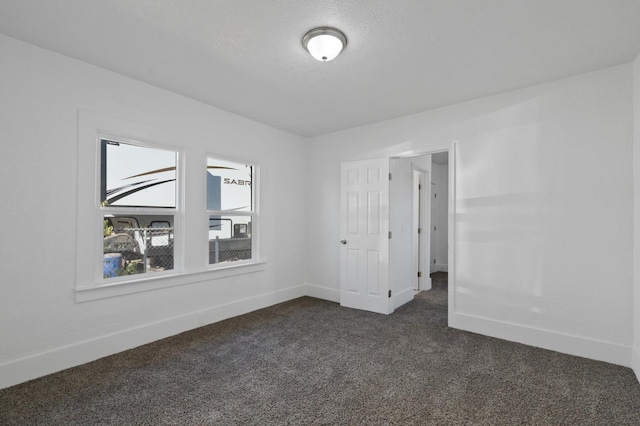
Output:
<path fill-rule="evenodd" d="M 103 277 L 173 269 L 173 215 L 103 217 Z"/>

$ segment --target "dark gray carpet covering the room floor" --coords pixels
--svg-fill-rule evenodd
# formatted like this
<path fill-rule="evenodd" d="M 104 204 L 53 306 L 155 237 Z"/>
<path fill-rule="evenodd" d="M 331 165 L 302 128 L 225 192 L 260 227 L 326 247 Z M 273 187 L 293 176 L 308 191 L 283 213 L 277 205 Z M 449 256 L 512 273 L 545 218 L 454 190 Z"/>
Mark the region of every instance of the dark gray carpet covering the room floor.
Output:
<path fill-rule="evenodd" d="M 624 367 L 301 298 L 0 390 L 2 425 L 640 424 Z"/>

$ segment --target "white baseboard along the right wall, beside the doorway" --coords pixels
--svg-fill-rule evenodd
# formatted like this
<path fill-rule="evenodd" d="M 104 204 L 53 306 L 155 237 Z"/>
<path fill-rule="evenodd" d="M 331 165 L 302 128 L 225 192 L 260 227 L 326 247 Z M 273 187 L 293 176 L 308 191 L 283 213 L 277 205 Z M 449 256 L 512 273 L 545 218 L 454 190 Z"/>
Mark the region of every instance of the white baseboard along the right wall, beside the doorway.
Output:
<path fill-rule="evenodd" d="M 569 355 L 631 367 L 632 348 L 617 343 L 557 333 L 455 312 L 449 313 L 449 327 Z M 637 365 L 640 367 L 640 360 L 638 360 Z M 635 371 L 636 374 L 638 374 L 640 368 Z"/>

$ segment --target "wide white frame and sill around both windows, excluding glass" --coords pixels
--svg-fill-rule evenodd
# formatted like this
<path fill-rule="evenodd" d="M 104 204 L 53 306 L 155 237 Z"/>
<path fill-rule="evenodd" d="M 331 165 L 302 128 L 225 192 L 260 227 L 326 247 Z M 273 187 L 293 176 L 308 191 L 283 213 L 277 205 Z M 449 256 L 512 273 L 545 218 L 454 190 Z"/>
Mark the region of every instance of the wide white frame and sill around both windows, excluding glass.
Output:
<path fill-rule="evenodd" d="M 102 275 L 103 211 L 100 209 L 100 138 L 140 142 L 178 152 L 178 183 L 176 191 L 174 224 L 174 269 L 162 273 L 137 274 L 120 279 L 104 279 Z M 202 238 L 205 227 L 206 205 L 202 208 L 202 194 L 206 192 L 202 179 L 202 162 L 206 159 L 224 158 L 209 154 L 199 147 L 211 146 L 205 140 L 188 133 L 133 122 L 118 117 L 95 112 L 78 111 L 78 176 L 77 176 L 77 217 L 76 217 L 76 271 L 75 301 L 88 302 L 108 297 L 140 293 L 161 288 L 207 283 L 211 280 L 253 273 L 266 269 L 266 261 L 258 253 L 257 228 L 253 231 L 252 261 L 229 266 L 210 268 L 208 264 L 208 239 Z M 187 148 L 185 148 L 185 146 Z M 234 161 L 234 160 L 231 160 Z M 236 160 L 237 161 L 237 160 Z M 258 163 L 256 166 L 259 180 Z M 259 197 L 254 191 L 255 220 L 258 222 Z M 166 213 L 166 209 L 161 209 Z M 198 241 L 205 240 L 207 248 Z M 187 244 L 187 241 L 191 242 Z M 206 258 L 203 264 L 201 259 Z M 206 266 L 205 266 L 206 265 Z M 129 278 L 129 279 L 126 279 Z"/>

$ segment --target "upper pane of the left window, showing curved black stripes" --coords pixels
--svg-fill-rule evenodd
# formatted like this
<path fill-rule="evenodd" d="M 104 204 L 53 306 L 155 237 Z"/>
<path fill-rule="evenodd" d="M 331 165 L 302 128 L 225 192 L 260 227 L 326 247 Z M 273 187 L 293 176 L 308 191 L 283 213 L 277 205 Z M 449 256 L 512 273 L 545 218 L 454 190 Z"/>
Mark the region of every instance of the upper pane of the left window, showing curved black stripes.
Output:
<path fill-rule="evenodd" d="M 110 206 L 176 206 L 174 151 L 101 140 L 100 199 Z"/>

